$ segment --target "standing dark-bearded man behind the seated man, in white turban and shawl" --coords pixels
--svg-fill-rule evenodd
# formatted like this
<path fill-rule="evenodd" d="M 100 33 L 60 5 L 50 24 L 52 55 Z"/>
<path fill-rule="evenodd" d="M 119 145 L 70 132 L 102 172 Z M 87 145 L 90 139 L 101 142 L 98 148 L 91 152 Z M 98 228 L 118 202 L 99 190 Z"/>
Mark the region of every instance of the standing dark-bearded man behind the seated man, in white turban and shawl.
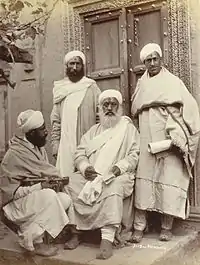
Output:
<path fill-rule="evenodd" d="M 73 157 L 81 136 L 96 123 L 100 90 L 84 75 L 85 55 L 71 51 L 65 55 L 66 77 L 54 82 L 52 123 L 53 156 L 61 176 L 74 172 Z"/>

